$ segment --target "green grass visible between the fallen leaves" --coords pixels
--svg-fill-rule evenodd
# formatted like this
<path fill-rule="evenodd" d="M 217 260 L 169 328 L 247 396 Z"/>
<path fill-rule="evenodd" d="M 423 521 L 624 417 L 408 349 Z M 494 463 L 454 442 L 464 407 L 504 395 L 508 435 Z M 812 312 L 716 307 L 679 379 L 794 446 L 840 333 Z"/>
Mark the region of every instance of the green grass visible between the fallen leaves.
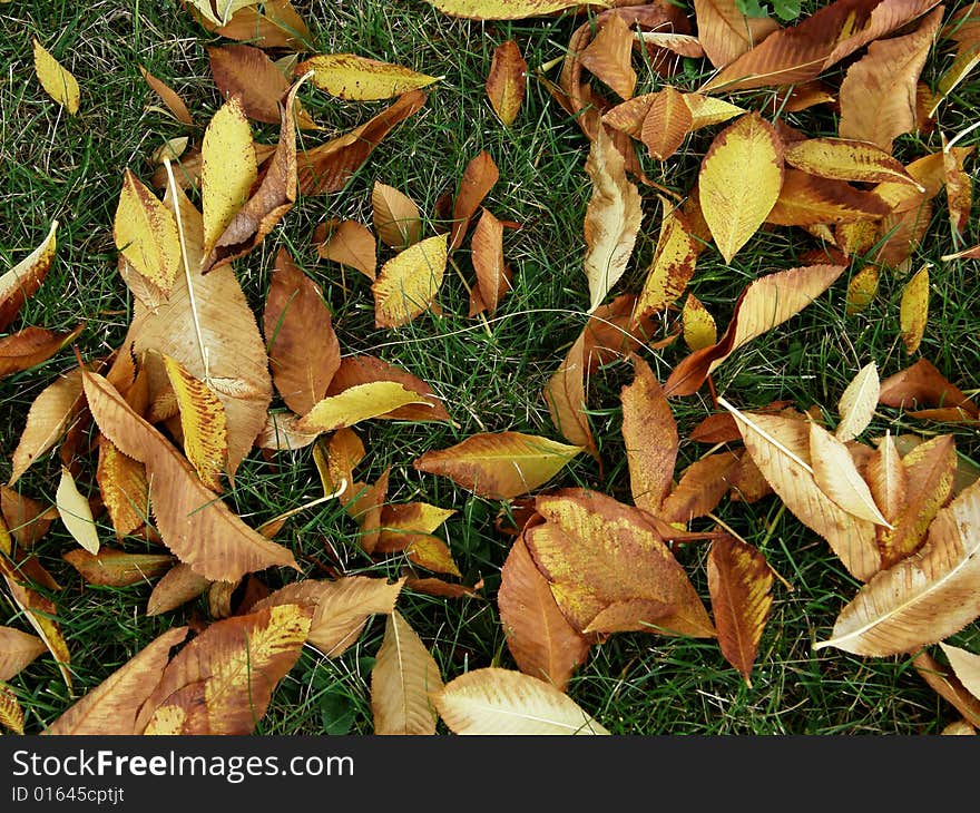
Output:
<path fill-rule="evenodd" d="M 590 194 L 584 172 L 588 144 L 533 78 L 520 117 L 509 129 L 490 109 L 483 82 L 500 42 L 517 39 L 533 69 L 562 56 L 579 21 L 470 22 L 450 19 L 421 1 L 297 7 L 310 22 L 320 52 L 354 51 L 445 78 L 432 89 L 425 107 L 378 147 L 343 190 L 302 198 L 258 249 L 236 263 L 237 276 L 261 314 L 275 253 L 285 245 L 323 286 L 345 354 L 370 352 L 402 364 L 445 399 L 454 427 L 383 421 L 359 427 L 369 454 L 357 474 L 374 481 L 391 467 L 392 502 L 424 500 L 457 511 L 440 533 L 449 541 L 465 584 L 483 581 L 481 596 L 437 599 L 406 590 L 399 600 L 400 611 L 430 647 L 443 677 L 488 665 L 514 668 L 494 600 L 500 567 L 511 545 L 493 527 L 501 506 L 442 478 L 420 473 L 412 461 L 427 450 L 482 431 L 518 430 L 558 438 L 540 391 L 579 334 L 588 306 L 581 271 L 582 217 Z M 31 63 L 31 37 L 78 78 L 82 96 L 77 117 L 63 112 L 40 88 Z M 55 266 L 11 331 L 29 324 L 69 330 L 84 321 L 77 343 L 84 357 L 105 356 L 119 346 L 133 305 L 116 272 L 111 234 L 122 173 L 129 167 L 148 180 L 148 156 L 165 139 L 189 135 L 199 143 L 203 127 L 222 101 L 205 50 L 218 41 L 174 2 L 98 0 L 79 6 L 67 0 L 41 4 L 14 0 L 0 6 L 0 268 L 31 251 L 52 219 L 61 223 Z M 933 53 L 923 79 L 934 86 L 949 61 L 944 52 Z M 177 124 L 157 107 L 139 65 L 183 95 L 195 118 L 194 128 Z M 685 70 L 675 82 L 696 88 L 704 78 L 700 62 L 689 60 Z M 549 76 L 555 75 L 552 70 Z M 638 92 L 655 87 L 653 77 L 641 74 Z M 384 106 L 332 100 L 308 86 L 301 98 L 324 127 L 322 134 L 303 133 L 301 148 L 350 129 Z M 771 100 L 772 94 L 765 91 L 739 97 L 746 106 L 768 104 L 770 110 Z M 969 126 L 977 104 L 980 86 L 964 82 L 943 105 L 943 130 L 952 135 Z M 836 126 L 825 110 L 793 114 L 787 123 L 812 135 L 832 135 Z M 718 129 L 695 134 L 684 153 L 663 166 L 644 158 L 646 170 L 658 183 L 686 194 Z M 262 125 L 255 130 L 268 141 L 276 137 L 275 127 Z M 970 144 L 976 144 L 976 134 L 961 146 Z M 896 154 L 910 160 L 940 147 L 938 134 L 910 135 L 898 140 Z M 454 190 L 467 163 L 481 149 L 500 168 L 500 182 L 484 205 L 498 217 L 522 224 L 521 229 L 506 233 L 514 290 L 490 322 L 492 335 L 482 323 L 467 317 L 467 292 L 452 272 L 440 293 L 441 316 L 427 314 L 402 329 L 375 330 L 367 281 L 350 271 L 342 275 L 337 266 L 317 257 L 311 242 L 314 226 L 331 217 L 370 224 L 370 194 L 378 179 L 411 196 L 425 218 L 425 235 L 434 234 L 442 225 L 432 214 L 437 200 Z M 659 232 L 656 195 L 641 192 L 644 226 L 631 271 L 617 292 L 639 290 Z M 925 262 L 933 264 L 932 310 L 920 352 L 970 391 L 980 369 L 977 267 L 970 262 L 939 261 L 962 243 L 950 234 L 943 194 L 934 204 L 927 238 L 912 261 L 912 271 Z M 970 236 L 977 237 L 976 233 Z M 469 278 L 468 245 L 455 257 Z M 802 229 L 777 228 L 753 237 L 728 266 L 709 249 L 699 259 L 690 290 L 723 329 L 748 282 L 793 267 L 815 245 Z M 389 256 L 383 254 L 382 259 Z M 854 271 L 856 265 L 845 277 Z M 874 360 L 882 375 L 888 375 L 910 363 L 898 325 L 905 278 L 884 274 L 874 303 L 856 316 L 844 315 L 846 278 L 839 281 L 791 324 L 725 362 L 714 379 L 718 392 L 744 408 L 775 399 L 792 399 L 801 409 L 817 404 L 833 419 L 841 392 L 863 364 Z M 644 353 L 661 381 L 683 355 L 682 346 Z M 74 365 L 66 350 L 0 382 L 0 479 L 8 478 L 9 457 L 33 399 Z M 628 364 L 617 361 L 590 381 L 592 427 L 605 471 L 580 458 L 555 484 L 582 484 L 629 500 L 618 401 L 629 379 Z M 705 451 L 686 434 L 708 414 L 710 402 L 703 390 L 675 400 L 673 406 L 684 438 L 678 459 L 683 468 Z M 883 411 L 866 437 L 885 429 L 951 432 L 961 454 L 980 460 L 977 432 L 966 425 L 923 425 Z M 81 457 L 77 463 L 82 490 L 94 492 L 94 457 Z M 56 452 L 45 456 L 17 490 L 52 503 L 59 467 Z M 281 452 L 268 460 L 256 450 L 243 463 L 226 500 L 255 527 L 321 494 L 308 449 Z M 620 634 L 594 647 L 571 680 L 569 694 L 584 708 L 618 734 L 923 734 L 938 733 L 958 717 L 910 667 L 908 658 L 812 650 L 815 640 L 829 636 L 837 611 L 859 585 L 826 543 L 782 510 L 778 501 L 772 497 L 753 505 L 726 500 L 718 516 L 759 547 L 793 587 L 790 591 L 777 582 L 774 588 L 773 615 L 752 687 L 725 663 L 715 641 Z M 356 532 L 342 509 L 327 502 L 293 517 L 277 540 L 296 552 L 306 577 L 325 578 L 330 568 L 396 576 L 405 562 L 373 561 L 357 547 Z M 105 521 L 101 533 L 104 539 L 111 538 Z M 166 628 L 204 625 L 210 619 L 204 599 L 146 617 L 150 584 L 122 589 L 86 585 L 61 559 L 71 547 L 75 543 L 63 526 L 55 522 L 36 552 L 65 588 L 48 595 L 57 601 L 72 653 L 78 695 L 98 685 Z M 126 539 L 125 547 L 157 550 L 136 538 Z M 707 601 L 705 555 L 706 548 L 697 545 L 677 551 Z M 291 577 L 267 572 L 257 578 L 275 587 Z M 0 591 L 0 624 L 28 628 L 6 591 Z M 382 634 L 383 619 L 375 618 L 341 657 L 325 658 L 305 649 L 256 731 L 371 733 L 370 672 Z M 977 650 L 980 630 L 970 625 L 955 640 Z M 10 685 L 24 708 L 30 733 L 42 729 L 72 702 L 49 656 L 35 660 Z"/>

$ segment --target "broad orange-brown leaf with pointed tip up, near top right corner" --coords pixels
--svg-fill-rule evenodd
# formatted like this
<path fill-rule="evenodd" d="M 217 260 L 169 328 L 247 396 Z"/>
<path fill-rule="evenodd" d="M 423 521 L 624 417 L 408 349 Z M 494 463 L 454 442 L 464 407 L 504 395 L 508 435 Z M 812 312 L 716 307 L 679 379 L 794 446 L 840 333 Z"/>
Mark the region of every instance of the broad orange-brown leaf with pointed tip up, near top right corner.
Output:
<path fill-rule="evenodd" d="M 898 136 L 915 129 L 915 86 L 943 11 L 934 9 L 910 35 L 872 42 L 847 68 L 839 97 L 841 138 L 871 141 L 891 153 Z"/>

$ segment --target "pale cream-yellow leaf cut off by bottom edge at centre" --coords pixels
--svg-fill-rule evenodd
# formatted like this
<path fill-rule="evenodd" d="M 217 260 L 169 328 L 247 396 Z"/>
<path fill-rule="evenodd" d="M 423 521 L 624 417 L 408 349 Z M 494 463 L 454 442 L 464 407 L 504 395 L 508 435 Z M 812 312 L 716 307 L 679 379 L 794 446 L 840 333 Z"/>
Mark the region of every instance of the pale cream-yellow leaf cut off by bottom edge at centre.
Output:
<path fill-rule="evenodd" d="M 609 734 L 550 684 L 496 666 L 450 680 L 435 706 L 454 734 Z"/>

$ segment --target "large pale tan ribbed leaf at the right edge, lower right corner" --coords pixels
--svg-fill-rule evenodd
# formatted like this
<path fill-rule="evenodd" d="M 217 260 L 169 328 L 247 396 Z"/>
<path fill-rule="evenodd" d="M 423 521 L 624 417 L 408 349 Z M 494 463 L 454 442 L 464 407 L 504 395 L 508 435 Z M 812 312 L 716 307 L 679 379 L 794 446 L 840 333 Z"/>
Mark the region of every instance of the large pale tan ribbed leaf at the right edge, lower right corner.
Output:
<path fill-rule="evenodd" d="M 841 610 L 827 646 L 884 657 L 915 652 L 980 615 L 980 482 L 943 508 L 925 545 L 883 570 Z"/>

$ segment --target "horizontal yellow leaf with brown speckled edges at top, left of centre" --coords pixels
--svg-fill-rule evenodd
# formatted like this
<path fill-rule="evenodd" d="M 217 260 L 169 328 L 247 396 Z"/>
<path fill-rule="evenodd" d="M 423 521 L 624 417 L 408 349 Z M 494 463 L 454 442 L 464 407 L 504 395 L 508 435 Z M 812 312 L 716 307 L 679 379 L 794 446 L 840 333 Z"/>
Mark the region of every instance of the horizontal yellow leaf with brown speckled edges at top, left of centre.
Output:
<path fill-rule="evenodd" d="M 321 90 L 355 101 L 391 99 L 442 79 L 354 53 L 321 53 L 300 62 L 295 74 L 300 76 L 307 70 L 314 71 L 313 84 Z"/>

